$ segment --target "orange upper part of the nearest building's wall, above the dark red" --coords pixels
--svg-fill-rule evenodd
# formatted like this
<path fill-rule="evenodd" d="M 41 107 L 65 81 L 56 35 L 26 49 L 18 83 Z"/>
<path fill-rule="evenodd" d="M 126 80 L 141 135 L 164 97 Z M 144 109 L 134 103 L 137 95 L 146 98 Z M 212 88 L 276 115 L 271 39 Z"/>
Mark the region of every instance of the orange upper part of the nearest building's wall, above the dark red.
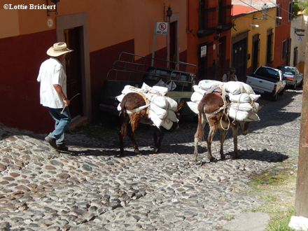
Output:
<path fill-rule="evenodd" d="M 1 1 L 1 6 L 9 1 Z M 12 3 L 13 2 L 13 3 Z M 50 3 L 50 1 L 48 1 Z M 179 13 L 179 48 L 180 52 L 187 49 L 186 43 L 186 0 L 61 0 L 57 3 L 58 15 L 47 10 L 30 10 L 30 4 L 43 6 L 45 0 L 10 1 L 15 10 L 0 10 L 0 38 L 32 34 L 55 29 L 55 17 L 73 13 L 88 13 L 89 48 L 90 52 L 100 50 L 135 39 L 136 53 L 148 55 L 153 49 L 153 33 L 155 21 L 163 22 L 165 10 L 171 6 L 174 14 Z M 53 4 L 53 3 L 52 3 Z M 27 9 L 22 9 L 27 7 Z M 54 26 L 47 27 L 48 18 L 52 18 Z M 155 50 L 166 47 L 167 37 L 156 36 Z"/>

